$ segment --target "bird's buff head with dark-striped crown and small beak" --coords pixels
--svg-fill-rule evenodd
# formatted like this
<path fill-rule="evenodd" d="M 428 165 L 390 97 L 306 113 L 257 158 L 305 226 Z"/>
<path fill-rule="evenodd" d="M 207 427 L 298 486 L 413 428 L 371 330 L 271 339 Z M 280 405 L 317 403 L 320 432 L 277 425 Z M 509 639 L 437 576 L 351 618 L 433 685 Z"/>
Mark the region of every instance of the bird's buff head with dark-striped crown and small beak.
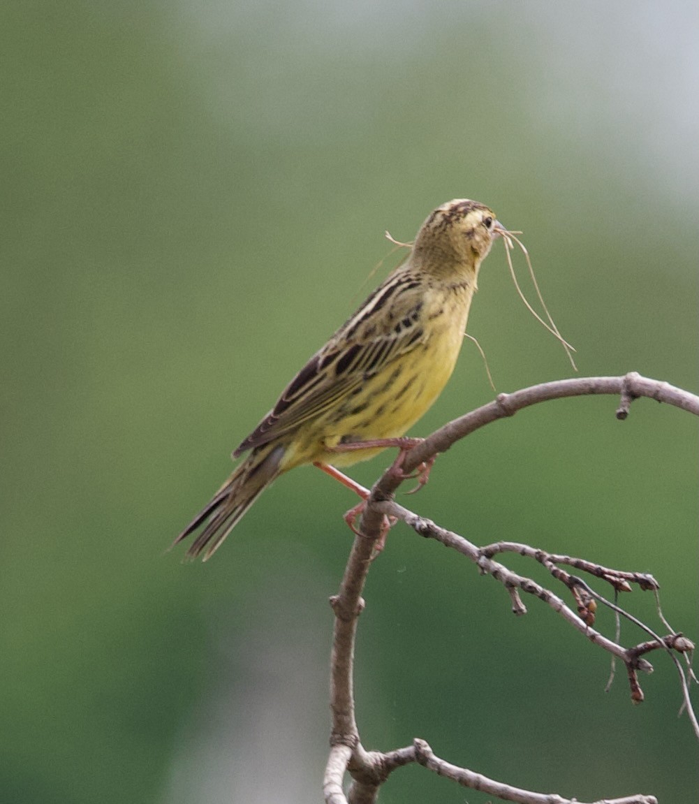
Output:
<path fill-rule="evenodd" d="M 431 273 L 464 269 L 477 273 L 493 240 L 504 227 L 493 210 L 469 199 L 454 199 L 437 207 L 420 227 L 413 245 L 413 260 Z"/>

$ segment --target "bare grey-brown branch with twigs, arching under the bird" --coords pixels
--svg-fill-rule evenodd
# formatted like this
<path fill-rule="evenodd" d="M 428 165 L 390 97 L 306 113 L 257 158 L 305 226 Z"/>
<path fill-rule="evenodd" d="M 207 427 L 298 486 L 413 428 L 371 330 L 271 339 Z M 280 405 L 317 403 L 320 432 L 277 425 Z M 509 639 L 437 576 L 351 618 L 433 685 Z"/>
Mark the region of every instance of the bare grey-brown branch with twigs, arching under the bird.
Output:
<path fill-rule="evenodd" d="M 672 404 L 699 416 L 699 397 L 667 383 L 642 377 L 636 372 L 622 377 L 558 380 L 553 383 L 524 388 L 512 394 L 500 394 L 493 402 L 444 425 L 405 455 L 404 473 L 410 474 L 421 464 L 433 459 L 437 453 L 445 452 L 456 441 L 475 432 L 476 429 L 505 416 L 513 416 L 521 408 L 568 396 L 595 394 L 619 396 L 619 407 L 616 410 L 619 420 L 627 418 L 632 401 L 640 396 Z M 514 542 L 502 541 L 477 548 L 463 536 L 439 527 L 431 520 L 423 519 L 394 503 L 394 492 L 402 480 L 399 473 L 386 470 L 372 487 L 366 511 L 362 515 L 362 534 L 354 539 L 339 593 L 336 597 L 331 598 L 331 605 L 335 613 L 335 626 L 331 657 L 333 729 L 330 742 L 332 747 L 324 780 L 327 804 L 374 804 L 380 786 L 390 773 L 411 763 L 423 765 L 426 769 L 438 773 L 440 776 L 448 777 L 462 786 L 473 790 L 483 790 L 507 801 L 521 802 L 521 804 L 573 804 L 575 801 L 575 799 L 562 798 L 558 794 L 540 794 L 521 790 L 493 781 L 471 770 L 450 765 L 447 761 L 435 757 L 427 742 L 417 738 L 413 745 L 389 753 L 366 752 L 363 749 L 354 716 L 354 644 L 358 617 L 364 608 L 362 590 L 371 562 L 376 556 L 375 548 L 381 537 L 382 524 L 386 515 L 402 519 L 420 535 L 435 539 L 441 544 L 455 549 L 476 564 L 482 574 L 499 580 L 509 593 L 514 613 L 526 613 L 520 593 L 531 594 L 546 602 L 587 639 L 624 662 L 632 690 L 632 699 L 636 702 L 643 699 L 643 692 L 640 690 L 636 677 L 637 671 L 652 671 L 652 665 L 644 658 L 644 655 L 660 648 L 668 651 L 681 673 L 685 705 L 688 708 L 693 728 L 699 736 L 697 718 L 689 706 L 689 682 L 677 661 L 677 653 L 690 654 L 694 647 L 693 643 L 681 634 L 674 632 L 664 637 L 654 634 L 648 626 L 644 626 L 619 606 L 606 601 L 582 579 L 562 569 L 561 565 L 597 577 L 610 584 L 615 592 L 629 592 L 632 590 L 632 585 L 637 585 L 641 590 L 652 590 L 657 594 L 658 584 L 652 575 L 610 569 L 586 559 L 547 553 L 529 547 L 529 545 Z M 576 601 L 578 612 L 575 613 L 573 609 L 570 609 L 550 589 L 544 588 L 530 578 L 512 572 L 504 564 L 494 560 L 493 556 L 506 552 L 518 552 L 522 556 L 529 556 L 542 564 L 555 580 L 570 590 Z M 595 622 L 595 607 L 598 601 L 614 609 L 617 614 L 635 621 L 652 636 L 652 639 L 636 646 L 624 648 L 619 643 L 600 634 L 592 627 Z M 660 612 L 659 614 L 662 619 L 662 614 Z M 350 773 L 353 778 L 352 786 L 346 797 L 342 788 L 345 773 Z M 657 802 L 653 796 L 637 794 L 625 798 L 604 799 L 603 802 L 595 802 L 595 804 L 657 804 Z"/>

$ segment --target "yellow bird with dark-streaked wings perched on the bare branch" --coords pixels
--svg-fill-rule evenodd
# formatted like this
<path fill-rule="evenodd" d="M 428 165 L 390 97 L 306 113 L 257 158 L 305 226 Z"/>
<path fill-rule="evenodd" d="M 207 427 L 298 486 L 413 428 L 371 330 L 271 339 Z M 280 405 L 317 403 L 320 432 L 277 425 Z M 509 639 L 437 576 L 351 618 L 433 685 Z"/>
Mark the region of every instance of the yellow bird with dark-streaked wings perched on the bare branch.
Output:
<path fill-rule="evenodd" d="M 404 434 L 452 375 L 480 265 L 506 233 L 477 201 L 454 199 L 431 211 L 406 259 L 235 449 L 233 458 L 247 457 L 173 546 L 199 531 L 186 556 L 210 558 L 260 494 L 296 466 L 313 464 L 358 490 L 337 466 L 414 445 Z"/>

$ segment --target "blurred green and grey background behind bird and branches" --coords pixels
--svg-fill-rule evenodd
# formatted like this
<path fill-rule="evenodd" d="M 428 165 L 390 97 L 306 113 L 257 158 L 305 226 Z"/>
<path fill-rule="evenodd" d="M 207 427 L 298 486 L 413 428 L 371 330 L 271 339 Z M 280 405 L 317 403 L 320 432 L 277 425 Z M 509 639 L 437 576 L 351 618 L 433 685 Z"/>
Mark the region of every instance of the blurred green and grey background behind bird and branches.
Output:
<path fill-rule="evenodd" d="M 394 265 L 385 229 L 410 240 L 439 203 L 488 203 L 525 232 L 581 375 L 697 391 L 697 14 L 689 0 L 2 5 L 2 802 L 321 800 L 327 598 L 354 499 L 298 470 L 209 564 L 163 551 Z M 501 246 L 469 331 L 498 391 L 570 375 Z M 492 398 L 466 343 L 414 434 Z M 615 404 L 488 427 L 407 500 L 478 544 L 653 572 L 696 638 L 696 421 L 640 400 L 620 424 Z M 390 459 L 352 474 L 370 483 Z M 513 617 L 501 587 L 406 527 L 366 599 L 367 748 L 422 736 L 522 787 L 694 800 L 667 657 L 642 706 L 623 672 L 605 694 L 606 654 L 537 601 Z M 660 628 L 648 594 L 623 604 Z M 600 626 L 613 634 L 607 613 Z M 409 768 L 381 800 L 489 799 Z"/>

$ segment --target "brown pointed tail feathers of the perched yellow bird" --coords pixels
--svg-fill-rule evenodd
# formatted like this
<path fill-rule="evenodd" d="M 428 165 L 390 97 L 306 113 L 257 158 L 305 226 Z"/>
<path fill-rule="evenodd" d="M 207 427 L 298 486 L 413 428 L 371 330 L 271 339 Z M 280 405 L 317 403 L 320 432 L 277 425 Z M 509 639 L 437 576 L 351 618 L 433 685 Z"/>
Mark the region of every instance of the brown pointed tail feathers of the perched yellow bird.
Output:
<path fill-rule="evenodd" d="M 265 444 L 253 450 L 240 466 L 236 466 L 206 508 L 178 535 L 172 547 L 204 525 L 187 550 L 187 556 L 196 558 L 203 552 L 203 560 L 211 558 L 245 511 L 279 476 L 285 449 L 282 444 Z"/>

